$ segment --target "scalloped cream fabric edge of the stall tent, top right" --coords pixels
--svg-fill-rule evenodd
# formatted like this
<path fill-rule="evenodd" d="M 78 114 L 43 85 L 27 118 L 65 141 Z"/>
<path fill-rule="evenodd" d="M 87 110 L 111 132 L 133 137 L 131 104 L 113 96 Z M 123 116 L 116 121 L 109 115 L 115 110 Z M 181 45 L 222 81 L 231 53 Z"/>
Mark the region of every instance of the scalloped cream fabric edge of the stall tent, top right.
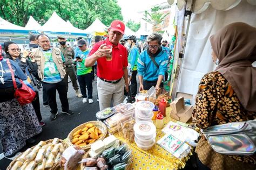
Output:
<path fill-rule="evenodd" d="M 167 1 L 170 5 L 177 2 L 178 9 L 181 10 L 185 5 L 185 0 L 168 0 Z M 241 3 L 241 0 L 195 0 L 194 3 L 194 13 L 201 13 L 204 12 L 209 6 L 216 10 L 230 10 Z M 247 3 L 251 5 L 256 5 L 255 0 L 247 0 Z"/>

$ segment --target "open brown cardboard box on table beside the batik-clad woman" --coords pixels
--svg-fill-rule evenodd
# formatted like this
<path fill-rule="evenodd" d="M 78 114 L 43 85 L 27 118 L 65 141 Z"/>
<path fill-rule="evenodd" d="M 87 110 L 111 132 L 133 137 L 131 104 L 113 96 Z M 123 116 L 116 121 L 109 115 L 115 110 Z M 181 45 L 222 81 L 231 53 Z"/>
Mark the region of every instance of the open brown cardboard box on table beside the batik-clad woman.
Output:
<path fill-rule="evenodd" d="M 187 123 L 192 117 L 194 107 L 185 105 L 184 97 L 176 98 L 171 104 L 171 118 Z"/>

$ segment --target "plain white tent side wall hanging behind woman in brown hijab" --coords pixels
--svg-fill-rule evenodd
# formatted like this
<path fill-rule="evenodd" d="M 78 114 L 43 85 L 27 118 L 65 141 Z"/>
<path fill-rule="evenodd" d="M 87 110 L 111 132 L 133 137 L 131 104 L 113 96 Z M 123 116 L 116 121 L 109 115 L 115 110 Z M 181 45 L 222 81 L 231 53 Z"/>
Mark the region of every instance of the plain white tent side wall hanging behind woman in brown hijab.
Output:
<path fill-rule="evenodd" d="M 216 65 L 211 59 L 209 40 L 212 34 L 234 22 L 244 22 L 256 27 L 254 16 L 256 16 L 256 6 L 246 1 L 242 1 L 228 11 L 216 10 L 210 6 L 203 13 L 193 13 L 177 92 L 195 97 L 201 78 L 215 69 Z"/>

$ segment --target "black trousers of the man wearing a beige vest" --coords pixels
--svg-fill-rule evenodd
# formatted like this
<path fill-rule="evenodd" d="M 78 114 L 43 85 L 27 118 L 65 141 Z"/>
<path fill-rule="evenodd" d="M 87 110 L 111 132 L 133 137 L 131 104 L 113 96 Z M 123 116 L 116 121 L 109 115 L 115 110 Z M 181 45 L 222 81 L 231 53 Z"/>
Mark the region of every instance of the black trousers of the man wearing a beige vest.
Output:
<path fill-rule="evenodd" d="M 58 107 L 56 102 L 56 90 L 58 90 L 59 100 L 62 103 L 62 111 L 69 110 L 69 101 L 67 96 L 66 84 L 64 80 L 58 83 L 43 82 L 43 87 L 46 90 L 46 93 L 48 96 L 48 102 L 49 102 L 49 106 L 51 108 L 52 114 L 57 114 L 58 112 Z"/>

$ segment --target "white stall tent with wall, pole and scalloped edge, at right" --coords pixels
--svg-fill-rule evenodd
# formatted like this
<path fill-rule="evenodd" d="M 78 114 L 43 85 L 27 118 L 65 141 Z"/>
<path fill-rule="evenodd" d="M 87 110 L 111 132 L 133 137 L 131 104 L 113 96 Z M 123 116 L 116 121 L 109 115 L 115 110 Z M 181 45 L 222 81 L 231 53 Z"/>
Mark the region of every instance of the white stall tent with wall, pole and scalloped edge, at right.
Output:
<path fill-rule="evenodd" d="M 174 1 L 168 2 L 172 4 Z M 193 5 L 191 0 L 178 1 L 177 6 L 181 10 L 177 11 L 177 16 L 184 17 L 185 10 L 189 11 L 190 6 L 194 6 L 194 10 L 192 9 L 194 13 L 177 19 L 178 33 L 176 61 L 174 61 L 176 63 L 174 68 L 177 68 L 174 84 L 177 84 L 177 88 L 174 85 L 173 97 L 178 93 L 195 97 L 201 78 L 216 67 L 211 59 L 209 37 L 225 25 L 234 22 L 244 22 L 256 27 L 255 5 L 256 1 L 250 0 L 195 0 Z M 190 23 L 186 24 L 187 20 L 190 20 Z"/>

